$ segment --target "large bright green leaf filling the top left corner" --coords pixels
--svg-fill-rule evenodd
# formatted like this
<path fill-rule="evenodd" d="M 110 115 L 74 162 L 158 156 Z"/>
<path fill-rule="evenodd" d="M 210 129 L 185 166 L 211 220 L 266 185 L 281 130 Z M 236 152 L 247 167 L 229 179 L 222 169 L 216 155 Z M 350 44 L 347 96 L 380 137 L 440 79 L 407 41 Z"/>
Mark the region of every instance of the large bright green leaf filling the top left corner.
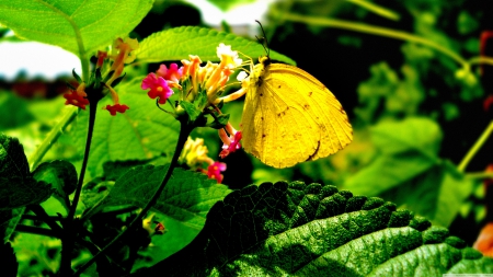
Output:
<path fill-rule="evenodd" d="M 11 0 L 0 5 L 0 23 L 81 57 L 127 36 L 151 7 L 151 0 Z"/>

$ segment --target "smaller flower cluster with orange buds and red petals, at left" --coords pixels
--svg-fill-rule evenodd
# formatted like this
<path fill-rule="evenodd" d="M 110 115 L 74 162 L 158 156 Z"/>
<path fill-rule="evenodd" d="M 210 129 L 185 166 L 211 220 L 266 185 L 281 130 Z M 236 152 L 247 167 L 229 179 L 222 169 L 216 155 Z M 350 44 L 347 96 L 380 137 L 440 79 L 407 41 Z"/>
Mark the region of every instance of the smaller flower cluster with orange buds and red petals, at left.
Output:
<path fill-rule="evenodd" d="M 133 38 L 117 38 L 112 47 L 112 51 L 98 51 L 98 61 L 94 72 L 88 82 L 81 80 L 79 76 L 73 72 L 79 85 L 70 86 L 70 92 L 64 94 L 67 100 L 66 105 L 78 106 L 85 109 L 87 105 L 95 105 L 102 97 L 110 94 L 113 100 L 113 105 L 106 105 L 104 109 L 108 111 L 111 115 L 116 113 L 125 113 L 129 107 L 119 103 L 118 94 L 114 86 L 116 86 L 124 76 L 122 76 L 125 64 L 135 60 L 133 50 L 138 48 L 137 39 Z"/>

